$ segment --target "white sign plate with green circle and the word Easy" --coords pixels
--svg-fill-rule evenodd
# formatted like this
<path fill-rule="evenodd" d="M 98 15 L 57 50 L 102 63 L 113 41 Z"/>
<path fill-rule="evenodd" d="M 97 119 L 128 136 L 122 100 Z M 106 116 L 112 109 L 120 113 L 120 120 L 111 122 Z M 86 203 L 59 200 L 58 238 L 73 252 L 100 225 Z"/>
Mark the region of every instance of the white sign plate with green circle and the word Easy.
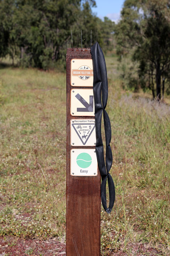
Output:
<path fill-rule="evenodd" d="M 97 176 L 95 149 L 72 149 L 70 174 L 72 176 Z"/>

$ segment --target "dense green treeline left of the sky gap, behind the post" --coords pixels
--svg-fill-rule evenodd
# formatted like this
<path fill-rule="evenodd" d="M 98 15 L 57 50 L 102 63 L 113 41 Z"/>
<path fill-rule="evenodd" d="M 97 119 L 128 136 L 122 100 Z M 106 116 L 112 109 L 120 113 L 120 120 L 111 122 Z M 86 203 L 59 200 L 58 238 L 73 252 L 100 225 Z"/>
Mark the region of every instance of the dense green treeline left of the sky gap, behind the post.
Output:
<path fill-rule="evenodd" d="M 0 58 L 10 55 L 21 66 L 48 69 L 64 65 L 73 32 L 73 47 L 90 47 L 97 40 L 112 48 L 114 22 L 102 21 L 93 0 L 0 0 Z M 98 34 L 97 34 L 98 31 Z M 78 40 L 77 40 L 78 38 Z"/>

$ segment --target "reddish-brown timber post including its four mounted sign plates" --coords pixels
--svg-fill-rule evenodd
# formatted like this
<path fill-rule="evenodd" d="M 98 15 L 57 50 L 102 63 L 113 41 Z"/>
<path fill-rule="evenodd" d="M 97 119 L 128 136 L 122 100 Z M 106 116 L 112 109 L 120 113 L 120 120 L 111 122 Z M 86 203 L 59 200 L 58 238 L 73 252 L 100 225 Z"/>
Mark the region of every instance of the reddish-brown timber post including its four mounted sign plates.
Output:
<path fill-rule="evenodd" d="M 66 255 L 100 256 L 100 172 L 90 49 L 68 48 L 66 64 Z"/>

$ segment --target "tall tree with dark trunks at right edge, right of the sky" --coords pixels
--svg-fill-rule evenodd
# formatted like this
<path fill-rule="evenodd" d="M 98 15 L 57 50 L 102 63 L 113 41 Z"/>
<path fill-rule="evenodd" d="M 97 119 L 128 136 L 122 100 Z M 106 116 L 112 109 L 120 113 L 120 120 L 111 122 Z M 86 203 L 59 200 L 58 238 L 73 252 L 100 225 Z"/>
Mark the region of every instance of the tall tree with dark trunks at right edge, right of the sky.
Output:
<path fill-rule="evenodd" d="M 168 0 L 126 0 L 115 34 L 119 55 L 132 52 L 143 88 L 158 100 L 164 94 L 170 67 L 170 3 Z M 145 78 L 145 80 L 144 80 Z"/>

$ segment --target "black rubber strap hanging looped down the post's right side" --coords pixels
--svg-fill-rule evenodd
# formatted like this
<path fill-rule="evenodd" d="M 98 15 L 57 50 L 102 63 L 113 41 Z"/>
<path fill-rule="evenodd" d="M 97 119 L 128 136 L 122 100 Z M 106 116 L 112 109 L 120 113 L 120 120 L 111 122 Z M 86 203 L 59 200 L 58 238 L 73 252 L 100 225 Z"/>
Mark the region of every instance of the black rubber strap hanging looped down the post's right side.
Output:
<path fill-rule="evenodd" d="M 102 49 L 100 48 L 98 42 L 91 47 L 91 55 L 93 60 L 93 70 L 94 70 L 94 81 L 93 81 L 93 92 L 95 101 L 95 124 L 96 124 L 96 155 L 98 161 L 98 167 L 100 170 L 102 183 L 101 183 L 101 200 L 104 210 L 110 213 L 113 208 L 115 200 L 115 188 L 112 176 L 109 171 L 112 167 L 113 157 L 112 150 L 110 146 L 111 142 L 111 123 L 109 116 L 105 110 L 108 99 L 108 81 L 107 81 L 107 70 L 106 63 Z M 101 122 L 102 113 L 104 119 L 104 131 L 106 138 L 106 165 L 104 161 L 104 151 L 101 133 Z M 108 180 L 109 187 L 109 207 L 107 208 L 106 200 L 106 182 Z"/>

